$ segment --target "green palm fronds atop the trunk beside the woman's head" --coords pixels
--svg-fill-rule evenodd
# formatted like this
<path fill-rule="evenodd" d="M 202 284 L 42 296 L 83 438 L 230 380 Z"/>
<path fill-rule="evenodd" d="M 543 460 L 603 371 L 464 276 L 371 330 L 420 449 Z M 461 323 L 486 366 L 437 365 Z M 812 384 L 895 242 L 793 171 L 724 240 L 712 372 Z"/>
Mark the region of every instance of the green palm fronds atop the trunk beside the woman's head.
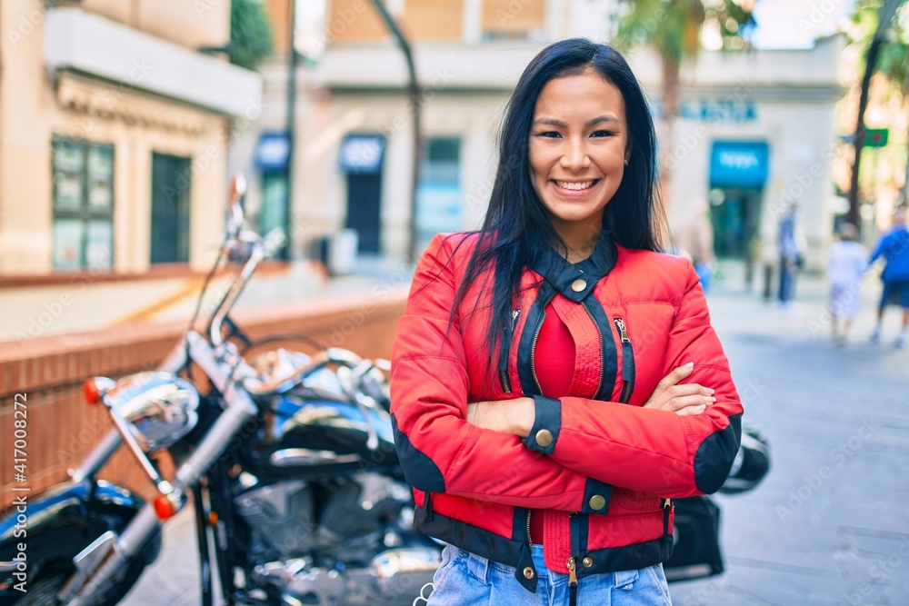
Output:
<path fill-rule="evenodd" d="M 613 43 L 624 49 L 653 46 L 675 63 L 697 55 L 704 27 L 713 28 L 727 49 L 744 48 L 754 28 L 752 3 L 736 0 L 620 0 L 620 4 L 624 15 Z"/>

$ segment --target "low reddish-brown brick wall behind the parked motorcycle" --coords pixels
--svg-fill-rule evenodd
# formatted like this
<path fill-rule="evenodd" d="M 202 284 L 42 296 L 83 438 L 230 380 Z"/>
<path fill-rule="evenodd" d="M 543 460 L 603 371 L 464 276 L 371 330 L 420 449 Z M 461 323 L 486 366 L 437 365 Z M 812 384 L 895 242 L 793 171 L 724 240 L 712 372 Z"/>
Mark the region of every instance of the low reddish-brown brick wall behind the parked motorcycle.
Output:
<path fill-rule="evenodd" d="M 394 289 L 377 297 L 335 297 L 233 315 L 253 339 L 298 333 L 363 357 L 388 357 L 405 296 L 405 290 Z M 136 324 L 97 333 L 0 343 L 0 509 L 12 502 L 13 486 L 29 486 L 34 496 L 65 482 L 66 470 L 77 466 L 111 428 L 103 407 L 85 404 L 85 378 L 116 378 L 154 369 L 185 327 L 185 322 Z M 282 345 L 301 348 L 295 343 L 273 343 L 269 347 Z M 16 393 L 27 398 L 25 483 L 15 482 L 13 467 Z M 170 468 L 163 461 L 165 475 Z M 105 465 L 101 477 L 145 498 L 154 494 L 152 483 L 125 449 Z"/>

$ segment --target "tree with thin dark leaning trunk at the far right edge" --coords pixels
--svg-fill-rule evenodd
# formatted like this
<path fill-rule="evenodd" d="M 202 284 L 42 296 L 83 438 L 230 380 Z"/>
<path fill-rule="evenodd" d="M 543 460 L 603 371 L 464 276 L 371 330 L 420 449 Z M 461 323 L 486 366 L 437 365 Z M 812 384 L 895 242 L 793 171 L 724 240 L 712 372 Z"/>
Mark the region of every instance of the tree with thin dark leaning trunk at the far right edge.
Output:
<path fill-rule="evenodd" d="M 909 103 L 909 78 L 906 77 L 909 72 L 909 32 L 905 27 L 909 22 L 909 8 L 904 2 L 905 0 L 858 0 L 852 15 L 855 25 L 851 33 L 852 42 L 867 49 L 853 138 L 855 155 L 849 188 L 848 221 L 856 225 L 860 224 L 858 177 L 865 137 L 864 111 L 868 106 L 872 75 L 883 74 L 903 95 L 903 104 Z M 899 18 L 894 18 L 897 15 Z M 903 193 L 904 198 L 909 198 L 909 149 Z"/>

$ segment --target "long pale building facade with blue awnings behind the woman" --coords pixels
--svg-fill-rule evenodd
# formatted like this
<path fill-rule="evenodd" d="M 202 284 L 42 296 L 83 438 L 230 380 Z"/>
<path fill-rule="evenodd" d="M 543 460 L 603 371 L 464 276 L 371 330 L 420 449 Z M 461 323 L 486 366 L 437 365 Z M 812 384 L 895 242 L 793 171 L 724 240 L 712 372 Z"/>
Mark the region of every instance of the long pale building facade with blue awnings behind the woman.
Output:
<path fill-rule="evenodd" d="M 269 216 L 275 215 L 270 208 L 287 204 L 281 198 L 286 187 L 274 185 L 286 174 L 285 156 L 269 164 L 264 153 L 285 133 L 289 7 L 286 0 L 266 4 L 275 30 L 285 31 L 281 53 L 264 70 L 260 132 L 237 140 L 231 165 L 252 174 L 251 208 Z M 524 66 L 554 40 L 608 41 L 615 14 L 611 0 L 386 5 L 414 44 L 422 87 L 415 214 L 413 130 L 400 49 L 367 0 L 331 0 L 325 14 L 307 15 L 320 20 L 315 26 L 301 25 L 298 9 L 297 51 L 318 56 L 297 74 L 288 213 L 297 254 L 312 239 L 344 227 L 360 233 L 361 253 L 393 256 L 407 250 L 412 221 L 418 249 L 433 233 L 477 227 L 492 189 L 504 105 Z M 300 35 L 314 29 L 321 35 Z M 807 50 L 704 51 L 684 66 L 674 142 L 661 142 L 674 169 L 671 225 L 683 224 L 708 201 L 721 256 L 773 257 L 776 224 L 794 202 L 808 262 L 820 265 L 840 212 L 830 165 L 834 106 L 844 94 L 837 70 L 843 44 L 833 37 Z M 659 118 L 657 57 L 635 49 L 628 59 Z"/>

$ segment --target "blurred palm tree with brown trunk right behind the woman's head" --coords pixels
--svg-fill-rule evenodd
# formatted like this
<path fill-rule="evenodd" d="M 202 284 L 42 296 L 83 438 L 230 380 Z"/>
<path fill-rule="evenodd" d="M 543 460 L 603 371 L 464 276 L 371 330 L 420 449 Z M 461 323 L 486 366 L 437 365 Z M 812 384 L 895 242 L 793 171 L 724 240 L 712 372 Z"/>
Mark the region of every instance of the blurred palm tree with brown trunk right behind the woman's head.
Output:
<path fill-rule="evenodd" d="M 746 48 L 754 27 L 754 0 L 619 0 L 624 8 L 614 44 L 620 48 L 652 46 L 660 55 L 663 82 L 663 130 L 660 180 L 664 203 L 672 183 L 668 151 L 673 148 L 679 111 L 679 70 L 694 60 L 705 28 L 718 35 L 724 49 Z"/>

